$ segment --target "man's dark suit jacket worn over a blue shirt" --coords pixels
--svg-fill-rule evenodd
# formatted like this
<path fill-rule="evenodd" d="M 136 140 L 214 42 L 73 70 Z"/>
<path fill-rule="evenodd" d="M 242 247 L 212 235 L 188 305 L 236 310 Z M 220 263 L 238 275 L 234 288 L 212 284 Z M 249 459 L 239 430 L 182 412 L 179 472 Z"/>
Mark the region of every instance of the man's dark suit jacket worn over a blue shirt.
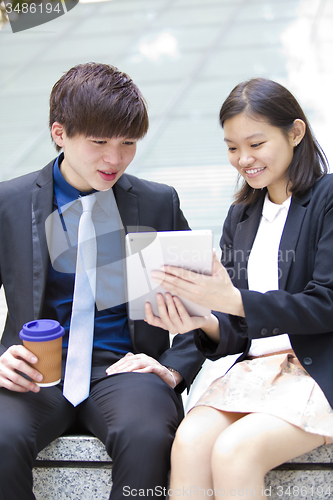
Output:
<path fill-rule="evenodd" d="M 22 325 L 41 316 L 49 266 L 45 220 L 53 211 L 53 163 L 0 184 L 0 285 L 8 307 L 0 354 L 21 344 Z M 139 226 L 189 229 L 172 187 L 123 174 L 113 190 L 126 232 Z M 176 336 L 170 348 L 167 331 L 144 321 L 129 320 L 129 327 L 134 352 L 177 370 L 184 379 L 177 391 L 189 388 L 204 359 L 193 332 Z"/>

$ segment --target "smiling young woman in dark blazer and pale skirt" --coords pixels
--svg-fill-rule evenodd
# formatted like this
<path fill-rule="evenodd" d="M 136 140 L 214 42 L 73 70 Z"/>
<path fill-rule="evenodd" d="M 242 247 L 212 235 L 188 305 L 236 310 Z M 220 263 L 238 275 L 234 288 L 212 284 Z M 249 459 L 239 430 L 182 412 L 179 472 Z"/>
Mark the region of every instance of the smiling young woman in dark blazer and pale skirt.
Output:
<path fill-rule="evenodd" d="M 180 497 L 264 496 L 265 474 L 333 442 L 333 176 L 302 109 L 281 85 L 239 84 L 220 121 L 243 178 L 226 218 L 221 263 L 200 276 L 154 273 L 171 332 L 200 327 L 210 359 L 242 353 L 181 424 L 170 488 Z M 190 318 L 177 295 L 214 312 Z"/>

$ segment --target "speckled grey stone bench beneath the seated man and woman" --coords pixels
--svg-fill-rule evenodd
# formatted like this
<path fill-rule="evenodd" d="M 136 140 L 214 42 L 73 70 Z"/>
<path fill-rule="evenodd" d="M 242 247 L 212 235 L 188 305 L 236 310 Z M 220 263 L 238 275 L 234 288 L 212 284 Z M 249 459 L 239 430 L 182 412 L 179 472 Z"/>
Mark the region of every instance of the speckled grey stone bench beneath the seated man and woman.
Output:
<path fill-rule="evenodd" d="M 92 436 L 64 436 L 42 450 L 33 471 L 37 500 L 108 500 L 112 461 Z M 251 492 L 243 492 L 251 498 Z M 295 458 L 269 472 L 265 494 L 271 500 L 333 497 L 333 445 Z M 253 496 L 253 495 L 252 495 Z"/>

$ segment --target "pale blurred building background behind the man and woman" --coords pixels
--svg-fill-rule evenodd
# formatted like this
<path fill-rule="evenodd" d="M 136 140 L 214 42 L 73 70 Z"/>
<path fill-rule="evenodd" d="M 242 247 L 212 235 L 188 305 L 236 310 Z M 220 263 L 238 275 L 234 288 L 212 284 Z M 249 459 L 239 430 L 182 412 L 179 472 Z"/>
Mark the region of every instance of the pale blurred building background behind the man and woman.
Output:
<path fill-rule="evenodd" d="M 0 180 L 56 156 L 48 97 L 62 73 L 87 61 L 113 64 L 129 73 L 149 104 L 150 131 L 128 172 L 173 185 L 191 227 L 211 228 L 218 247 L 236 181 L 218 124 L 223 100 L 252 77 L 282 83 L 332 163 L 332 53 L 333 0 L 85 0 L 20 33 L 6 23 Z M 1 300 L 1 323 L 4 312 Z M 211 377 L 217 370 L 217 364 L 206 368 Z M 208 378 L 199 379 L 197 390 Z"/>

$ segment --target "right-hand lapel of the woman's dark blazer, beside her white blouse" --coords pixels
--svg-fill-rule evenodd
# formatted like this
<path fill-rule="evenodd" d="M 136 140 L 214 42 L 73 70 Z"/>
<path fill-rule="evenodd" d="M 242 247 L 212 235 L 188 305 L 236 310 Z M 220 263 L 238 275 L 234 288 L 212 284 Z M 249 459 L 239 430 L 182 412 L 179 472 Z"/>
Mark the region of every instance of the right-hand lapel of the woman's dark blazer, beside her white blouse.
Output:
<path fill-rule="evenodd" d="M 304 195 L 293 196 L 289 208 L 286 224 L 282 233 L 279 248 L 279 288 L 286 289 L 287 279 L 292 262 L 295 260 L 295 249 L 301 232 L 304 216 L 312 195 L 309 189 Z"/>

